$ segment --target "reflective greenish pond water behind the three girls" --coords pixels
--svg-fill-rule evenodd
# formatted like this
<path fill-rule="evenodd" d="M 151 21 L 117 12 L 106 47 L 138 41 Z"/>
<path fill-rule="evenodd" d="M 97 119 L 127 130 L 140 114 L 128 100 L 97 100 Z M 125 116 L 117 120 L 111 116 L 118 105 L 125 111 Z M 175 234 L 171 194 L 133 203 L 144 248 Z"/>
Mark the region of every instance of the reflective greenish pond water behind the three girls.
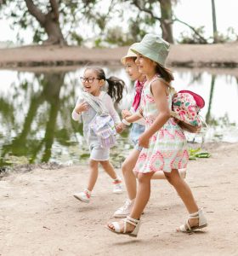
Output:
<path fill-rule="evenodd" d="M 72 71 L 0 70 L 0 166 L 42 162 L 70 165 L 88 160 L 82 124 L 71 119 L 81 91 L 82 72 L 83 67 Z M 105 73 L 126 82 L 127 91 L 118 110 L 128 108 L 133 99 L 133 84 L 124 69 L 105 68 Z M 206 101 L 201 116 L 208 127 L 199 135 L 187 134 L 188 140 L 238 142 L 238 73 L 235 76 L 221 71 L 175 69 L 174 76 L 176 90 L 193 90 Z M 120 166 L 130 149 L 125 131 L 111 150 L 115 166 Z"/>

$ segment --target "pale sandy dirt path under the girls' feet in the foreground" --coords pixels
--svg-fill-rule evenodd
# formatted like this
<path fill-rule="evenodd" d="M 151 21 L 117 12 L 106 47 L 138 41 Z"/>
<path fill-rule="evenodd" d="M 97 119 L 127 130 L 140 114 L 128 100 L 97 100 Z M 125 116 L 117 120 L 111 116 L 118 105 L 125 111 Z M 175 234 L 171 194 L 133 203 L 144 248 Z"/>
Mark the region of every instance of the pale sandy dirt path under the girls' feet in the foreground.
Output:
<path fill-rule="evenodd" d="M 0 255 L 238 255 L 238 144 L 208 150 L 212 157 L 190 161 L 186 177 L 206 212 L 206 229 L 191 235 L 175 231 L 187 213 L 160 180 L 152 182 L 138 238 L 116 236 L 105 224 L 127 195 L 113 195 L 104 172 L 85 204 L 71 194 L 85 187 L 86 166 L 37 169 L 0 180 Z"/>

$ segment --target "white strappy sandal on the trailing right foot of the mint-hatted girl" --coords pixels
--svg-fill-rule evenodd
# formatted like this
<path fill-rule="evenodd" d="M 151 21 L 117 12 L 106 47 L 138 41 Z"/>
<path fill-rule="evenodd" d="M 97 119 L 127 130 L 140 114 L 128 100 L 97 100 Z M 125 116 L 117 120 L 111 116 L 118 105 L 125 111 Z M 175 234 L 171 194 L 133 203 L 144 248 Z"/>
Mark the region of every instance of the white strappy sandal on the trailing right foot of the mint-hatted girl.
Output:
<path fill-rule="evenodd" d="M 193 227 L 190 227 L 189 220 L 191 218 L 198 218 L 198 224 Z M 184 233 L 190 233 L 195 230 L 203 229 L 205 227 L 207 227 L 207 218 L 205 218 L 205 216 L 202 212 L 202 209 L 199 209 L 198 212 L 191 213 L 189 218 L 187 219 L 186 223 L 184 225 L 181 225 L 177 231 L 184 232 Z"/>

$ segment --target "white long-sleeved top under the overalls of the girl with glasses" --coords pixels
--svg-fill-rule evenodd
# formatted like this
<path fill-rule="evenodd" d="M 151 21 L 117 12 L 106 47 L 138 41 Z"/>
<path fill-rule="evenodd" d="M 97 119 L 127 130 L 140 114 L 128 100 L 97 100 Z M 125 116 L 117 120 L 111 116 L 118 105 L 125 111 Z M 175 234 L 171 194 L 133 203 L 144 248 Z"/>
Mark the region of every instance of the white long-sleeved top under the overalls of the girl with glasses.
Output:
<path fill-rule="evenodd" d="M 119 117 L 119 114 L 116 112 L 116 109 L 114 108 L 114 104 L 112 102 L 111 96 L 108 95 L 105 91 L 100 91 L 99 96 L 95 96 L 95 98 L 99 98 L 105 105 L 105 108 L 107 109 L 108 113 L 111 115 L 112 119 L 114 120 L 115 124 L 119 124 L 121 122 L 121 119 Z M 77 99 L 76 106 L 83 102 L 82 96 L 79 96 Z M 75 121 L 78 121 L 80 118 L 80 113 L 76 112 L 76 109 L 74 108 L 72 112 L 72 119 Z"/>

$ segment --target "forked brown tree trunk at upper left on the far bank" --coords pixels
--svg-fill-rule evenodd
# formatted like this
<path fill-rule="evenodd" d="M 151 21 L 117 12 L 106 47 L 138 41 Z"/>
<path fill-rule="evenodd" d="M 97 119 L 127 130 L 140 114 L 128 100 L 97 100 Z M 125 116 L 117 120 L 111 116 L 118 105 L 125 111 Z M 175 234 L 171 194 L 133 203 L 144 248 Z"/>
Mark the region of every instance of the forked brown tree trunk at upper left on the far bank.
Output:
<path fill-rule="evenodd" d="M 49 0 L 50 10 L 44 15 L 32 0 L 25 0 L 29 13 L 34 16 L 48 35 L 43 44 L 66 44 L 59 26 L 59 7 L 56 0 Z"/>

